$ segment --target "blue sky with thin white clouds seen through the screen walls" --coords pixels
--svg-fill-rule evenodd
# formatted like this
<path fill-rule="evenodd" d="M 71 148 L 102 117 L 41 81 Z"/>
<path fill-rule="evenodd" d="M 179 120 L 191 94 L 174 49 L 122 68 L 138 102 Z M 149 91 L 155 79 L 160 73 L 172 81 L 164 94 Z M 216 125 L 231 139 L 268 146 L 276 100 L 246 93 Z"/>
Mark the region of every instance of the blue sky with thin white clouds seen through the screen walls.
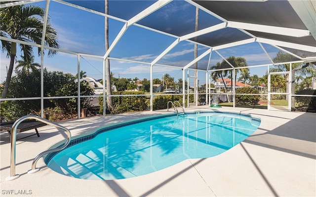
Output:
<path fill-rule="evenodd" d="M 44 7 L 45 2 L 34 3 L 37 6 Z M 179 3 L 179 2 L 177 2 Z M 184 2 L 181 2 L 184 3 Z M 188 8 L 187 8 L 188 7 Z M 130 7 L 133 9 L 133 7 Z M 165 12 L 186 12 L 186 9 L 192 9 L 192 5 L 185 5 L 179 10 L 175 4 L 167 4 L 164 9 L 156 13 L 161 15 L 163 20 L 172 19 L 173 15 Z M 163 15 L 164 14 L 164 15 Z M 74 51 L 85 54 L 93 54 L 103 56 L 105 54 L 104 46 L 104 17 L 85 12 L 74 7 L 66 6 L 55 1 L 51 1 L 49 7 L 49 15 L 52 26 L 56 29 L 59 37 L 58 41 L 61 49 Z M 203 15 L 203 13 L 201 13 Z M 151 17 L 151 16 L 150 16 Z M 184 22 L 185 23 L 185 22 Z M 192 23 L 192 21 L 187 21 Z M 116 35 L 124 25 L 123 22 L 109 19 L 110 25 L 110 44 L 115 39 Z M 123 58 L 128 60 L 137 60 L 143 62 L 153 61 L 164 49 L 166 49 L 176 38 L 165 34 L 152 32 L 140 27 L 131 26 L 122 36 L 111 57 Z M 277 49 L 275 47 L 264 45 L 271 57 L 275 57 Z M 202 54 L 208 48 L 199 46 L 198 54 Z M 35 52 L 35 62 L 40 63 L 40 57 Z M 244 46 L 231 47 L 218 50 L 225 58 L 234 55 L 236 57 L 244 57 L 248 65 L 263 65 L 269 64 L 270 61 L 261 49 L 258 43 L 250 43 Z M 17 59 L 20 59 L 20 54 L 17 54 Z M 6 66 L 9 66 L 9 59 L 5 54 L 0 54 L 0 82 L 5 80 Z M 158 64 L 184 66 L 194 59 L 194 44 L 188 41 L 182 41 L 174 47 Z M 206 56 L 198 65 L 207 65 L 209 56 Z M 217 62 L 222 62 L 222 58 L 215 52 L 211 54 L 210 66 L 216 65 Z M 83 57 L 80 59 L 81 70 L 85 71 L 89 77 L 95 79 L 102 78 L 103 64 L 102 59 Z M 124 78 L 147 78 L 150 79 L 149 65 L 127 63 L 122 61 L 111 61 L 111 71 L 115 77 Z M 77 56 L 59 52 L 53 58 L 44 57 L 44 67 L 51 71 L 63 71 L 65 73 L 77 73 Z M 257 74 L 259 77 L 266 73 L 266 67 L 250 68 L 250 75 Z M 193 75 L 193 71 L 190 71 Z M 169 73 L 177 81 L 182 78 L 182 70 L 179 68 L 170 68 L 162 66 L 154 66 L 154 78 L 160 78 L 164 73 Z M 205 83 L 205 72 L 199 72 L 199 85 Z"/>

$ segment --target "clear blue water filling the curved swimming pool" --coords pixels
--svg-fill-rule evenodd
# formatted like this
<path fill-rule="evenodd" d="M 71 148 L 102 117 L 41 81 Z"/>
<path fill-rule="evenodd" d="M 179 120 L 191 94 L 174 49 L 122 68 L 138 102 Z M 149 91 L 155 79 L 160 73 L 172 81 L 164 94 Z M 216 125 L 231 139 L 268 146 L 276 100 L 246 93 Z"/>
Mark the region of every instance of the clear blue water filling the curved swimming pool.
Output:
<path fill-rule="evenodd" d="M 89 140 L 77 139 L 81 142 L 72 142 L 63 151 L 48 155 L 45 162 L 61 174 L 81 179 L 140 176 L 186 159 L 219 155 L 252 134 L 260 119 L 199 113 L 134 123 L 97 131 Z"/>

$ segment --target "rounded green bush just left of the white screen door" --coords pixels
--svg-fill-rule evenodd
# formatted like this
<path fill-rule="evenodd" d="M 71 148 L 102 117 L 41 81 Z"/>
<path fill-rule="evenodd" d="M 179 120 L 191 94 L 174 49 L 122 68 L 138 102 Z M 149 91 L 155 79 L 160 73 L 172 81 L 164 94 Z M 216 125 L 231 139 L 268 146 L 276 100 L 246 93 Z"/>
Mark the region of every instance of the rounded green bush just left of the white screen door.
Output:
<path fill-rule="evenodd" d="M 259 91 L 255 88 L 242 87 L 238 88 L 237 94 L 259 94 Z M 259 95 L 236 95 L 237 105 L 257 105 L 259 102 Z"/>

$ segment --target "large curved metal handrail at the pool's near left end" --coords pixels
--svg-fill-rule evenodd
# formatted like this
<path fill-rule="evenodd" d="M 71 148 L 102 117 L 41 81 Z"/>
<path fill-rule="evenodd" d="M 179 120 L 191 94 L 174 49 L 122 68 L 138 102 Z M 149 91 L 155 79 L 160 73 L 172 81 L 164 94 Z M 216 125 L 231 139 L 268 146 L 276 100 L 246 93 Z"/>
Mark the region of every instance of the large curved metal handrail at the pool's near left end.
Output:
<path fill-rule="evenodd" d="M 54 148 L 54 149 L 50 149 L 50 150 L 46 150 L 42 153 L 40 153 L 38 156 L 36 156 L 36 158 L 33 160 L 32 162 L 32 169 L 28 171 L 28 173 L 35 173 L 37 171 L 40 170 L 40 168 L 36 168 L 36 164 L 38 162 L 38 160 L 40 159 L 41 156 L 47 154 L 47 153 L 51 153 L 51 152 L 55 152 L 55 151 L 59 151 L 59 150 L 62 150 L 64 149 L 70 142 L 71 140 L 71 132 L 61 126 L 61 125 L 58 125 L 56 123 L 53 123 L 49 120 L 46 120 L 46 119 L 43 119 L 39 116 L 36 116 L 36 115 L 27 115 L 27 116 L 23 116 L 21 118 L 19 118 L 18 120 L 16 120 L 11 128 L 11 137 L 10 137 L 10 140 L 11 140 L 11 156 L 10 156 L 10 176 L 6 177 L 5 180 L 7 181 L 11 181 L 11 180 L 14 180 L 14 179 L 17 179 L 20 177 L 19 174 L 15 174 L 15 150 L 16 150 L 16 131 L 17 131 L 17 128 L 18 128 L 18 125 L 24 121 L 24 120 L 27 120 L 27 119 L 35 119 L 35 120 L 38 120 L 40 122 L 43 122 L 43 123 L 46 123 L 47 125 L 51 125 L 51 126 L 54 126 L 56 128 L 60 128 L 60 129 L 63 129 L 65 131 L 67 131 L 67 140 L 65 142 L 64 145 L 62 145 L 61 147 L 57 147 L 57 148 Z"/>

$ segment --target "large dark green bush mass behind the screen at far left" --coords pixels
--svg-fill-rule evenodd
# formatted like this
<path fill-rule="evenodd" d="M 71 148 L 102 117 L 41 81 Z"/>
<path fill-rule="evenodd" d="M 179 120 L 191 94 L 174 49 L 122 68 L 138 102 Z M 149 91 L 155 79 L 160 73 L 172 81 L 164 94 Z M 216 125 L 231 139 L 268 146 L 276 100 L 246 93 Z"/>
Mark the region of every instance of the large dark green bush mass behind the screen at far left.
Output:
<path fill-rule="evenodd" d="M 25 72 L 16 69 L 15 73 L 16 75 L 11 78 L 8 98 L 40 97 L 40 70 Z M 43 80 L 44 97 L 77 96 L 78 94 L 78 84 L 71 74 L 44 69 Z M 91 96 L 93 89 L 87 83 L 80 82 L 80 95 Z M 87 108 L 89 101 L 90 98 L 81 98 L 80 107 Z M 46 111 L 48 108 L 55 107 L 68 115 L 77 115 L 77 99 L 44 99 Z M 40 99 L 1 102 L 0 116 L 5 120 L 16 120 L 28 114 L 40 114 Z"/>

